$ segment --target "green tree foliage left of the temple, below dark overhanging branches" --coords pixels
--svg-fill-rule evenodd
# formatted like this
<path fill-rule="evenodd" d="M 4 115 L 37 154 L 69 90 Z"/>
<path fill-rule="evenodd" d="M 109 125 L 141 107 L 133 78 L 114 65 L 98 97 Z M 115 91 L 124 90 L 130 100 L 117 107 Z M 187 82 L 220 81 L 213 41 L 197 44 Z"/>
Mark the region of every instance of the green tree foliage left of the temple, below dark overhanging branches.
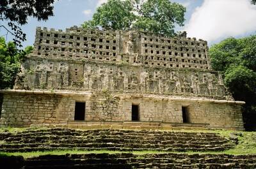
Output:
<path fill-rule="evenodd" d="M 20 71 L 20 62 L 26 54 L 31 53 L 33 47 L 17 50 L 15 43 L 0 38 L 0 89 L 12 88 L 17 73 Z"/>

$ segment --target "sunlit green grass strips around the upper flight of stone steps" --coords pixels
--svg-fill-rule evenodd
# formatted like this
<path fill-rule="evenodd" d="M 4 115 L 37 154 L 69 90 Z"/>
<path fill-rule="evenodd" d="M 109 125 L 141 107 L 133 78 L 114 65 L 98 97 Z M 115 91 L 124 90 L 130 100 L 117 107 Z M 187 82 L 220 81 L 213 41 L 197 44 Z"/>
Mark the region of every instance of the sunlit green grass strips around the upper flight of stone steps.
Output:
<path fill-rule="evenodd" d="M 27 128 L 28 129 L 28 128 Z M 29 128 L 31 130 L 35 129 L 44 129 L 44 128 Z M 45 128 L 46 129 L 46 128 Z M 0 132 L 9 131 L 11 133 L 17 133 L 19 131 L 24 131 L 26 128 L 0 128 Z M 204 133 L 216 133 L 225 138 L 229 138 L 230 133 L 241 133 L 241 136 L 238 136 L 239 144 L 236 145 L 234 149 L 229 149 L 227 151 L 221 152 L 172 152 L 172 153 L 186 153 L 186 154 L 256 154 L 256 132 L 248 131 L 228 131 L 224 129 L 212 129 L 212 130 L 179 130 L 186 132 L 204 132 Z M 179 132 L 177 131 L 177 132 Z M 124 152 L 124 151 L 81 151 L 77 149 L 67 150 L 67 151 L 45 151 L 45 152 L 0 152 L 0 156 L 24 156 L 24 158 L 42 156 L 47 154 L 63 155 L 63 154 L 90 154 L 90 153 L 132 153 L 132 154 L 157 154 L 157 153 L 168 153 L 170 151 L 133 151 L 133 152 Z"/>

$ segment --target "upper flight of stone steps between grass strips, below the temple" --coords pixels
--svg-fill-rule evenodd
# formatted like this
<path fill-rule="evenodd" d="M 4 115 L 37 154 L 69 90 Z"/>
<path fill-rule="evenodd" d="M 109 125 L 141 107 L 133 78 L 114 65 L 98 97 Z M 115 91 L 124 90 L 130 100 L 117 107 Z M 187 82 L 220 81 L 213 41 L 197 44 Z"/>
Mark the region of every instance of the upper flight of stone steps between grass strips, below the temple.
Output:
<path fill-rule="evenodd" d="M 109 151 L 224 151 L 234 144 L 215 133 L 156 130 L 65 128 L 29 129 L 0 133 L 0 151 L 32 152 L 51 150 Z"/>

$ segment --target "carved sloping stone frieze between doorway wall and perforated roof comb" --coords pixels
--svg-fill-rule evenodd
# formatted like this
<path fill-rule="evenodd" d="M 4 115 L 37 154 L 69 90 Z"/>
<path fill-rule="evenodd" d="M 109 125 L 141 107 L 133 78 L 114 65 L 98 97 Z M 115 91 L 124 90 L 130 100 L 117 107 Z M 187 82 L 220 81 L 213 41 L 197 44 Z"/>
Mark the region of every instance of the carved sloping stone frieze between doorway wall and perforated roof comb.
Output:
<path fill-rule="evenodd" d="M 154 69 L 127 64 L 26 59 L 16 89 L 147 93 L 232 100 L 221 74 L 187 68 Z"/>

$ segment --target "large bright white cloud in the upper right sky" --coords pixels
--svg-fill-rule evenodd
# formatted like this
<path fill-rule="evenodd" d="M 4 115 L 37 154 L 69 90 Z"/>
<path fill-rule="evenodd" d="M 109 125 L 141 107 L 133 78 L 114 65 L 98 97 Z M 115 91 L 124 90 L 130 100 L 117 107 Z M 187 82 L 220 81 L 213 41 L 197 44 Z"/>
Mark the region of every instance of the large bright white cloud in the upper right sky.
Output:
<path fill-rule="evenodd" d="M 256 30 L 256 6 L 249 0 L 204 0 L 195 9 L 185 31 L 208 41 Z"/>

